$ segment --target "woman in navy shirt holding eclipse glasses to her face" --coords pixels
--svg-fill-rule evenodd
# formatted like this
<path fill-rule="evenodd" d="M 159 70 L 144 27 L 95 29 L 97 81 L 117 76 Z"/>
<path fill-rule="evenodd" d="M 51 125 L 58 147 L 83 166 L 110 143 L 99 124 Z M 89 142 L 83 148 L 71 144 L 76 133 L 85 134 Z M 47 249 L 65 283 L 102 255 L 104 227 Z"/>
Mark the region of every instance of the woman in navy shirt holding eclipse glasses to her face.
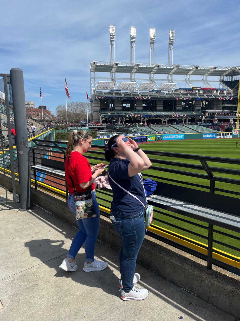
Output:
<path fill-rule="evenodd" d="M 145 235 L 145 208 L 125 190 L 146 204 L 140 172 L 148 169 L 151 162 L 134 140 L 122 135 L 109 139 L 105 159 L 110 161 L 108 181 L 113 191 L 110 219 L 122 242 L 119 257 L 121 279 L 118 282 L 121 299 L 143 300 L 148 296 L 148 290 L 134 285 L 140 280 L 140 275 L 134 272 Z"/>

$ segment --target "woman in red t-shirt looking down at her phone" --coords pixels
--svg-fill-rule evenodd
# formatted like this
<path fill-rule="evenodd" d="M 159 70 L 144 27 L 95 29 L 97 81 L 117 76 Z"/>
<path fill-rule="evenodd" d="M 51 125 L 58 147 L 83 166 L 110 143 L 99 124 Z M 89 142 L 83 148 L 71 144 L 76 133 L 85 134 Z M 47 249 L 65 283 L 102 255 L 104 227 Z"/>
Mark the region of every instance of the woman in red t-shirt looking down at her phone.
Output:
<path fill-rule="evenodd" d="M 77 270 L 76 262 L 74 261 L 77 252 L 80 250 L 85 242 L 86 261 L 84 262 L 83 270 L 85 272 L 101 271 L 107 266 L 107 262 L 98 261 L 94 258 L 95 245 L 100 224 L 100 211 L 96 201 L 96 194 L 94 191 L 93 181 L 97 178 L 104 169 L 101 169 L 105 163 L 100 163 L 90 166 L 83 153 L 91 147 L 92 136 L 85 130 L 74 130 L 69 135 L 68 145 L 66 149 L 65 160 L 65 178 L 68 184 L 68 206 L 76 218 L 75 203 L 73 200 L 74 187 L 76 192 L 86 192 L 89 188 L 92 189 L 93 205 L 96 216 L 87 217 L 82 220 L 76 220 L 79 226 L 79 231 L 75 235 L 72 244 L 69 248 L 67 258 L 65 258 L 60 265 L 60 268 L 65 271 L 75 272 Z M 74 149 L 73 149 L 74 146 Z M 69 159 L 69 160 L 68 160 Z M 71 182 L 71 178 L 74 187 Z"/>

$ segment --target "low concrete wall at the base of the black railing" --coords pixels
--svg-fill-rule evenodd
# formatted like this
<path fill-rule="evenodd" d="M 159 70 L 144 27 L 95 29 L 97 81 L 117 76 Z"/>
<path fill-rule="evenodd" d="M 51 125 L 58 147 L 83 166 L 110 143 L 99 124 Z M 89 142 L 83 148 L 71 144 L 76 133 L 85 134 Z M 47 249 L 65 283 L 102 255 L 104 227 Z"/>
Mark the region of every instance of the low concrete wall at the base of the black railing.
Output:
<path fill-rule="evenodd" d="M 7 177 L 6 183 L 7 188 L 11 191 L 10 177 Z M 4 186 L 2 173 L 0 173 L 0 185 Z M 16 187 L 17 193 L 19 193 L 18 180 L 16 180 Z M 77 227 L 76 220 L 65 200 L 33 188 L 32 200 L 33 204 Z M 98 239 L 117 251 L 120 250 L 119 235 L 116 234 L 110 220 L 104 216 L 100 218 Z M 217 267 L 208 271 L 206 262 L 148 236 L 145 236 L 137 260 L 140 264 L 186 291 L 236 317 L 240 317 L 239 276 Z"/>

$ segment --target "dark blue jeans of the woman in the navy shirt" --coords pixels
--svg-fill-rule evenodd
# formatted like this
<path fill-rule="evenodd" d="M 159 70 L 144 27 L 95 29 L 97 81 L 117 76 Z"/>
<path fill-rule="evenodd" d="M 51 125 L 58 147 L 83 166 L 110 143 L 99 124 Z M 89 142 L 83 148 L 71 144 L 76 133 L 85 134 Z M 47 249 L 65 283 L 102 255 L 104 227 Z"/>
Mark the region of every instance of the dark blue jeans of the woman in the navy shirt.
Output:
<path fill-rule="evenodd" d="M 135 215 L 120 217 L 111 211 L 111 215 L 116 219 L 116 222 L 112 221 L 113 227 L 122 242 L 119 263 L 123 290 L 126 292 L 133 288 L 137 255 L 145 235 L 144 213 L 145 210 Z"/>

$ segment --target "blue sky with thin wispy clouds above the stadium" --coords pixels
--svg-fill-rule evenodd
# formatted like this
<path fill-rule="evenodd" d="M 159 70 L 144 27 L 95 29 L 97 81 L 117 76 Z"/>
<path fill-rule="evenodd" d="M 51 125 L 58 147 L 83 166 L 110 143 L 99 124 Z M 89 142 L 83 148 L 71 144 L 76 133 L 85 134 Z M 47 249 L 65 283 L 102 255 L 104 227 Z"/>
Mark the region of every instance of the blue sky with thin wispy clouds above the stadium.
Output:
<path fill-rule="evenodd" d="M 1 73 L 23 70 L 26 100 L 51 111 L 65 104 L 64 75 L 73 101 L 90 93 L 91 60 L 109 61 L 109 24 L 116 25 L 116 61 L 130 61 L 129 30 L 136 26 L 136 62 L 149 62 L 149 28 L 156 28 L 155 63 L 240 65 L 239 0 L 63 1 L 1 4 Z"/>

